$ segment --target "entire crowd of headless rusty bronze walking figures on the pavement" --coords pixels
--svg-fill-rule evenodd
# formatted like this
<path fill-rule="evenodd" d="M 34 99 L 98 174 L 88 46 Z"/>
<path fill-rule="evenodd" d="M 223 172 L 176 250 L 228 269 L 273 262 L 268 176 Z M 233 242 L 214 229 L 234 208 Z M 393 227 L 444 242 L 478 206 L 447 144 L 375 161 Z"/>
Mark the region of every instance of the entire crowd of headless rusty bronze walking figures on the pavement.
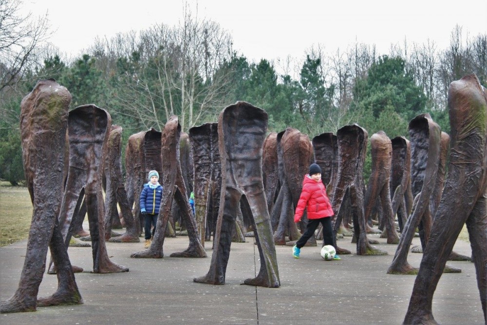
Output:
<path fill-rule="evenodd" d="M 302 175 L 316 162 L 335 212 L 335 246 L 341 233 L 353 236 L 356 254 L 386 254 L 367 237 L 376 231 L 371 226 L 377 219 L 381 236 L 388 244 L 398 244 L 387 272 L 417 274 L 405 324 L 434 323 L 431 305 L 439 278 L 444 271 L 459 271 L 448 267 L 447 260 L 470 259 L 452 251 L 464 224 L 486 317 L 487 91 L 475 75 L 450 84 L 450 136 L 428 114 L 411 120 L 410 140 L 389 139 L 382 131 L 371 136 L 367 186 L 365 129 L 347 125 L 337 134 L 323 133 L 312 140 L 290 127 L 266 135 L 267 114 L 246 102 L 226 107 L 217 123 L 193 127 L 188 134 L 181 132 L 178 117 L 171 116 L 162 132 L 131 135 L 124 185 L 122 128 L 112 125 L 110 114 L 95 105 L 68 112 L 70 101 L 68 90 L 49 79 L 40 80 L 21 103 L 22 155 L 34 211 L 19 287 L 0 303 L 2 313 L 82 304 L 74 277 L 82 268 L 71 265 L 67 248 L 74 234 L 87 234 L 81 227 L 85 213 L 93 272 L 128 271 L 110 260 L 105 241 L 139 241 L 138 195 L 149 170 L 162 175 L 161 210 L 150 248 L 131 257 L 162 258 L 164 239 L 175 235 L 178 223 L 187 230 L 189 246 L 170 256 L 206 257 L 205 241 L 213 235 L 209 271 L 194 281 L 223 285 L 232 241 L 244 240 L 251 230 L 261 267 L 244 284 L 279 287 L 275 245 L 294 245 L 304 229 L 305 224 L 293 221 L 294 207 Z M 188 202 L 191 191 L 194 215 Z M 125 226 L 124 234 L 112 232 L 116 222 Z M 416 249 L 423 252 L 419 269 L 407 262 L 416 229 L 421 241 Z M 307 245 L 317 245 L 319 237 L 318 232 Z M 48 270 L 56 273 L 58 288 L 51 297 L 37 298 L 48 247 Z M 351 253 L 336 248 L 337 253 Z"/>

